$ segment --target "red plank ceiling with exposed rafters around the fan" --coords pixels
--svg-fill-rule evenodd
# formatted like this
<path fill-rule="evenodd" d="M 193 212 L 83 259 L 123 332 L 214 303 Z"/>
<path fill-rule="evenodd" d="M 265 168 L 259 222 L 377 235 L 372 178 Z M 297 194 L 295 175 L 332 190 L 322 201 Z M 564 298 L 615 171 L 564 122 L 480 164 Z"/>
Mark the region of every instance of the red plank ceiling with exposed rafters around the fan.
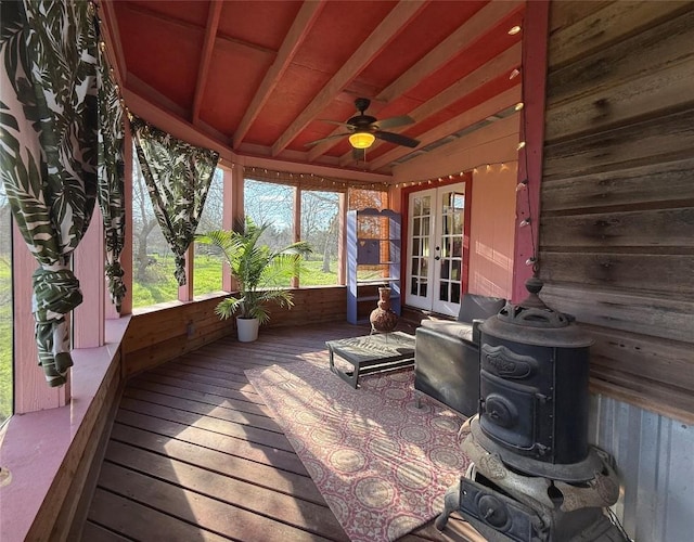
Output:
<path fill-rule="evenodd" d="M 388 173 L 518 100 L 523 1 L 104 0 L 124 96 L 137 96 L 236 154 Z M 367 98 L 415 149 L 344 133 Z M 487 104 L 487 106 L 485 106 Z M 491 105 L 493 104 L 493 105 Z M 146 115 L 142 113 L 146 118 Z"/>

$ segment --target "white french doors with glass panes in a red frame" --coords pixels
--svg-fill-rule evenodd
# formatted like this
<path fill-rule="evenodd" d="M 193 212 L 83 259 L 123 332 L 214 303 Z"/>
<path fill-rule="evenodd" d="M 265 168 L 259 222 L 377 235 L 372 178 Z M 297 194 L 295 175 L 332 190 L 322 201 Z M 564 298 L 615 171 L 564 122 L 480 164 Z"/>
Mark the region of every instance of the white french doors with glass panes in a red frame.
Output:
<path fill-rule="evenodd" d="M 462 296 L 465 183 L 412 192 L 408 209 L 407 304 L 458 315 Z"/>

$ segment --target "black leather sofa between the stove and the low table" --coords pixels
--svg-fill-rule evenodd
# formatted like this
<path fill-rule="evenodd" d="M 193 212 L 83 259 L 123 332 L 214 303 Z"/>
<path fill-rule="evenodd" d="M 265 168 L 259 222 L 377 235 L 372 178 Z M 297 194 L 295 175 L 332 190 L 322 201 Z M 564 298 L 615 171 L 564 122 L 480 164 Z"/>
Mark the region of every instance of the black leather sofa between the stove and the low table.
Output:
<path fill-rule="evenodd" d="M 414 388 L 465 416 L 477 413 L 478 326 L 505 304 L 500 297 L 465 294 L 458 321 L 424 320 L 415 332 Z"/>

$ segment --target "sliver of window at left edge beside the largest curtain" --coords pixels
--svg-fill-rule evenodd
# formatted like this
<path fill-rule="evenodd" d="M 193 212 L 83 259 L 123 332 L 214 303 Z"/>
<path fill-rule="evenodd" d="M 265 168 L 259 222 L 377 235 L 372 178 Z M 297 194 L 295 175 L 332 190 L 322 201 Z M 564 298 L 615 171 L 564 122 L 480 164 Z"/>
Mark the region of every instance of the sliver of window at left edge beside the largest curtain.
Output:
<path fill-rule="evenodd" d="M 12 222 L 10 202 L 0 182 L 0 425 L 13 412 Z"/>

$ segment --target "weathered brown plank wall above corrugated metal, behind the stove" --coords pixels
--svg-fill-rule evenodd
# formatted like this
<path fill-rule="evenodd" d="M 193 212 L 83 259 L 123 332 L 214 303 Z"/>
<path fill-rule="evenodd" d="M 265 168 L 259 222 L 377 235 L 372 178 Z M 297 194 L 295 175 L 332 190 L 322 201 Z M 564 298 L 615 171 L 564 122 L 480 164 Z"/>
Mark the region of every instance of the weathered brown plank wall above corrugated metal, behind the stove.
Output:
<path fill-rule="evenodd" d="M 540 276 L 592 389 L 694 422 L 694 2 L 550 9 Z"/>

